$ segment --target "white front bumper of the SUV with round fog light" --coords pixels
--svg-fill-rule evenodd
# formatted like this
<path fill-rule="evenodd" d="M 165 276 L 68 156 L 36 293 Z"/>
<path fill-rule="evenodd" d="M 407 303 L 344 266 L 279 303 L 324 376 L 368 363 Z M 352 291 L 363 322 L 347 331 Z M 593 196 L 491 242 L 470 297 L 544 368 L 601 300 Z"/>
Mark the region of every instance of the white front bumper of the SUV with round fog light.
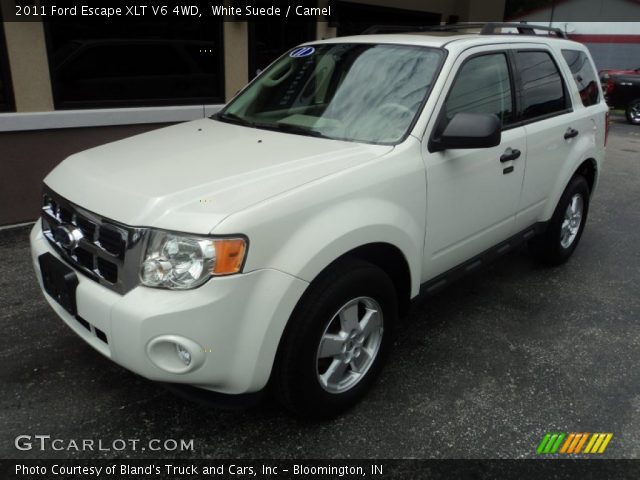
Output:
<path fill-rule="evenodd" d="M 38 257 L 47 252 L 60 256 L 44 238 L 40 222 L 30 241 L 42 289 Z M 214 278 L 193 290 L 138 286 L 120 295 L 76 274 L 79 319 L 44 290 L 43 294 L 92 347 L 148 379 L 228 394 L 256 392 L 267 384 L 286 322 L 308 286 L 286 273 L 264 269 Z M 169 357 L 175 352 L 155 348 L 158 339 L 184 339 L 194 350 L 192 367 L 173 368 L 175 358 Z"/>

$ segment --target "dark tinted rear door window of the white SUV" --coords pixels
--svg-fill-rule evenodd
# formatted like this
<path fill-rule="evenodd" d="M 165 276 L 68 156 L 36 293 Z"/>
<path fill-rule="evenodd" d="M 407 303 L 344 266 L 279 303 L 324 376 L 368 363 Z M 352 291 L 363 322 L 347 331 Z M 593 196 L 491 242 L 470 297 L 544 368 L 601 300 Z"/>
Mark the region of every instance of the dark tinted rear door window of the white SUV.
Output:
<path fill-rule="evenodd" d="M 522 119 L 562 112 L 567 100 L 562 76 L 548 52 L 516 52 L 516 68 L 522 82 Z"/>

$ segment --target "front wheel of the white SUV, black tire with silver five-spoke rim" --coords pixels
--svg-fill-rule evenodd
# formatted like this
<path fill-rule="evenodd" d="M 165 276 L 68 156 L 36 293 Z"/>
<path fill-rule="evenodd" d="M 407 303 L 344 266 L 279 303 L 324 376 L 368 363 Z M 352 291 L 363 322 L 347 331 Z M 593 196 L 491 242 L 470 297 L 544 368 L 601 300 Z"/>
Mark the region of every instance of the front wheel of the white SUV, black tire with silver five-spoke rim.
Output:
<path fill-rule="evenodd" d="M 301 417 L 330 418 L 357 403 L 380 373 L 398 316 L 393 282 L 349 259 L 320 274 L 294 310 L 272 383 Z"/>

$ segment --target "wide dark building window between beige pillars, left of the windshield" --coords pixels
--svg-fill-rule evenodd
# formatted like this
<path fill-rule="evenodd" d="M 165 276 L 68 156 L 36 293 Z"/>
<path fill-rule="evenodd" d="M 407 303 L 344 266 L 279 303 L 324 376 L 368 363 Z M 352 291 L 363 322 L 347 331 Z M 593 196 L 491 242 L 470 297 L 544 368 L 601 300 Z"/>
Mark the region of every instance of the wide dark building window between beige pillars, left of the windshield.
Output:
<path fill-rule="evenodd" d="M 221 21 L 46 27 L 56 108 L 224 101 Z"/>

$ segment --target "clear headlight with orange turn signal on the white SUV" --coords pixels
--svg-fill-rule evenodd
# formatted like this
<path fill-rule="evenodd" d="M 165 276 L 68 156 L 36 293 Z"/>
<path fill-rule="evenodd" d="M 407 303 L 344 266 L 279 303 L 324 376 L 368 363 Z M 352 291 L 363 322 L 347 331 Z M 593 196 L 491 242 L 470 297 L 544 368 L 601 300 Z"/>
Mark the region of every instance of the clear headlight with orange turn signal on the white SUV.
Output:
<path fill-rule="evenodd" d="M 212 275 L 238 273 L 246 249 L 242 238 L 206 238 L 152 230 L 140 280 L 148 287 L 195 288 Z"/>

